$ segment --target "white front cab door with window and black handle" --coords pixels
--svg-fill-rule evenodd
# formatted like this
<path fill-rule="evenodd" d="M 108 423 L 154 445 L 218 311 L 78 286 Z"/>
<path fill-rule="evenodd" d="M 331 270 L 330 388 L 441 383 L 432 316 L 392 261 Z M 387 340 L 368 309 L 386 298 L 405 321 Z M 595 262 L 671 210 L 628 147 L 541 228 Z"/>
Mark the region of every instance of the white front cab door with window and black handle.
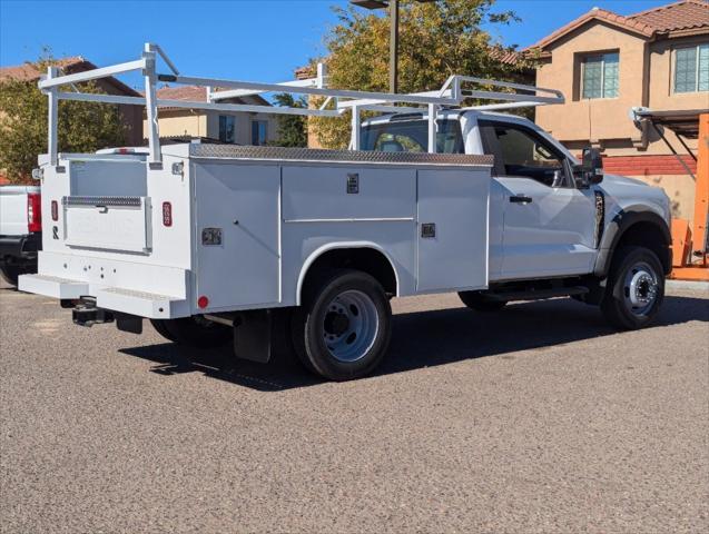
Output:
<path fill-rule="evenodd" d="M 480 120 L 495 156 L 493 188 L 502 211 L 499 279 L 587 274 L 595 257 L 595 196 L 579 189 L 563 152 L 514 121 Z"/>

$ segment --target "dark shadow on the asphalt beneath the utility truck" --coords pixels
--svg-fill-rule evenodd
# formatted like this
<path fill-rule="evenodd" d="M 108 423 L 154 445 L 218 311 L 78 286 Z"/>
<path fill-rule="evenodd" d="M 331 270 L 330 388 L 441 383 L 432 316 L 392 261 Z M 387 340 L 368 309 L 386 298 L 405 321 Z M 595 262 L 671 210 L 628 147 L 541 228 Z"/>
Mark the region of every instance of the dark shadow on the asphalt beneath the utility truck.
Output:
<path fill-rule="evenodd" d="M 709 300 L 667 296 L 658 320 L 649 328 L 692 320 L 709 323 Z M 397 314 L 388 354 L 374 376 L 488 356 L 512 359 L 516 352 L 559 347 L 614 334 L 618 332 L 605 323 L 597 307 L 572 299 L 518 303 L 496 314 L 474 313 L 463 307 Z M 200 350 L 164 343 L 120 352 L 154 362 L 156 365 L 150 370 L 160 375 L 200 372 L 258 390 L 323 383 L 284 350 L 268 364 L 237 359 L 230 347 Z"/>

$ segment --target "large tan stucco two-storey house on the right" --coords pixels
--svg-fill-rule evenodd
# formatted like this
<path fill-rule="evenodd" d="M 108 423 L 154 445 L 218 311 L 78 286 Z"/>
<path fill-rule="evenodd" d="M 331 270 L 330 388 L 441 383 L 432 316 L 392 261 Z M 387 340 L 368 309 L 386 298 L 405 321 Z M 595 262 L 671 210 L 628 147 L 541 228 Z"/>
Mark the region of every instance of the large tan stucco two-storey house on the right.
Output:
<path fill-rule="evenodd" d="M 682 0 L 626 17 L 594 8 L 526 53 L 540 62 L 536 85 L 567 96 L 563 106 L 538 108 L 536 122 L 574 151 L 599 147 L 609 172 L 662 186 L 674 215 L 690 219 L 693 180 L 630 109 L 709 112 L 709 2 Z M 678 152 L 683 141 L 696 154 L 696 139 L 660 131 Z M 696 161 L 682 159 L 696 174 Z"/>

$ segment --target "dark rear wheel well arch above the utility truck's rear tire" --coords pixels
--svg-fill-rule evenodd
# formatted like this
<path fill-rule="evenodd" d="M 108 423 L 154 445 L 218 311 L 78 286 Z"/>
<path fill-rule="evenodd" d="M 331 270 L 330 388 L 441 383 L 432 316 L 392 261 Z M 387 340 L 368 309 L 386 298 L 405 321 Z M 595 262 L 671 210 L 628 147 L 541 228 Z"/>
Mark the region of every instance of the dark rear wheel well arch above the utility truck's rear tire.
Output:
<path fill-rule="evenodd" d="M 308 267 L 301 287 L 301 295 L 332 269 L 356 269 L 374 277 L 384 291 L 396 295 L 396 273 L 388 258 L 374 248 L 335 248 L 323 253 Z"/>

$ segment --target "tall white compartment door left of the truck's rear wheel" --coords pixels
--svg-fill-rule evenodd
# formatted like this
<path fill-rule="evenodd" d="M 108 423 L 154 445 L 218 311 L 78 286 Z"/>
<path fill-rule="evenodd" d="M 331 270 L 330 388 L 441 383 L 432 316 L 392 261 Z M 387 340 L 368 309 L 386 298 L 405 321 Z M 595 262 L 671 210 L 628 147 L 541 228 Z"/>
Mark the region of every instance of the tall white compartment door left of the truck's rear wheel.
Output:
<path fill-rule="evenodd" d="M 195 164 L 197 294 L 209 310 L 280 300 L 276 166 Z"/>

